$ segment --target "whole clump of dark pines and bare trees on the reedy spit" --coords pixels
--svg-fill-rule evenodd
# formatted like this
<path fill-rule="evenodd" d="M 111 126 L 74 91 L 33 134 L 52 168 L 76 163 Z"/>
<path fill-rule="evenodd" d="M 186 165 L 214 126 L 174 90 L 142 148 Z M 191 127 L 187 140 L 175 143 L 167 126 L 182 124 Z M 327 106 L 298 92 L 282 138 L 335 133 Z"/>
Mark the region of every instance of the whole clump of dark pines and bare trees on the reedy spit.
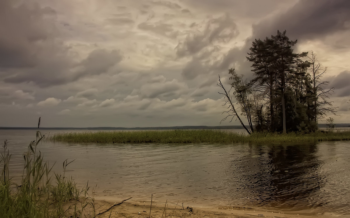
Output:
<path fill-rule="evenodd" d="M 227 100 L 229 113 L 223 120 L 237 118 L 248 133 L 314 132 L 327 114 L 336 115 L 337 107 L 328 100 L 334 88 L 326 88 L 329 82 L 321 79 L 327 67 L 318 63 L 312 51 L 309 55 L 294 53 L 296 43 L 289 40 L 286 31 L 255 39 L 246 57 L 252 63 L 253 79 L 244 81 L 235 69 L 229 70 L 233 96 L 248 125 L 240 118 L 219 76 L 218 86 L 224 90 L 220 94 Z M 330 118 L 328 123 L 332 121 Z"/>

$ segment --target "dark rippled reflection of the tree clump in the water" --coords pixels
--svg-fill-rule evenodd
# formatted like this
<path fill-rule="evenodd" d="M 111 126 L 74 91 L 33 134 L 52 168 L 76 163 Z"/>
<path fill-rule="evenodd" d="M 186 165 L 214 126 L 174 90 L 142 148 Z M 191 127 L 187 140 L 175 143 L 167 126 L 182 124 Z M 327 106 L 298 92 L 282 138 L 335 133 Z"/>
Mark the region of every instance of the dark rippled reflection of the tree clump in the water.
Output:
<path fill-rule="evenodd" d="M 250 146 L 239 161 L 239 169 L 245 169 L 239 182 L 259 205 L 293 209 L 322 205 L 325 202 L 310 198 L 325 182 L 318 174 L 321 163 L 316 151 L 314 144 Z"/>

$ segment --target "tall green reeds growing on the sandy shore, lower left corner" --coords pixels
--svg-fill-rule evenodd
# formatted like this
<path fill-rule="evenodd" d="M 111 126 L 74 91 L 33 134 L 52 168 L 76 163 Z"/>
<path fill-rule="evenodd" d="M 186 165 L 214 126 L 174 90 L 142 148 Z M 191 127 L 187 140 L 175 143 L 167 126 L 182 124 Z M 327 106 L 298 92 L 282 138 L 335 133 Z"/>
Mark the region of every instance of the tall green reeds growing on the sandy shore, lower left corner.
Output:
<path fill-rule="evenodd" d="M 88 196 L 89 188 L 79 189 L 71 177 L 54 173 L 43 161 L 37 145 L 44 138 L 39 131 L 36 140 L 31 141 L 28 151 L 23 155 L 24 167 L 21 184 L 15 184 L 9 177 L 10 153 L 5 140 L 1 153 L 2 168 L 0 181 L 0 217 L 82 217 L 87 214 L 86 206 L 93 201 Z M 63 162 L 63 170 L 69 165 Z"/>

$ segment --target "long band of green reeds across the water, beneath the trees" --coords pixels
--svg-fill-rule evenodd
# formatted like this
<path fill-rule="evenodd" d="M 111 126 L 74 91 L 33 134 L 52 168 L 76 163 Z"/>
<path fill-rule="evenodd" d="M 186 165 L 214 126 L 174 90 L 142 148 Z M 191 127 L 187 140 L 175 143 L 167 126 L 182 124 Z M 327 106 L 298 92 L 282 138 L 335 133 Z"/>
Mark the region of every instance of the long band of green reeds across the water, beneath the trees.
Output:
<path fill-rule="evenodd" d="M 112 131 L 60 133 L 50 141 L 68 143 L 285 143 L 350 140 L 350 131 L 301 133 L 253 133 L 244 135 L 221 130 Z"/>

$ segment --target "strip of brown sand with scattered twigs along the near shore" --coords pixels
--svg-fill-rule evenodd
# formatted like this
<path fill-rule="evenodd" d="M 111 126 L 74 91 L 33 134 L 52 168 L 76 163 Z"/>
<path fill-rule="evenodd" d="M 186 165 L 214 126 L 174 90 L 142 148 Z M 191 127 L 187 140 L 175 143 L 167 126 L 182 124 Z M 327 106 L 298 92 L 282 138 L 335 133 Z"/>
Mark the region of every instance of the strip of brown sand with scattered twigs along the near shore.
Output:
<path fill-rule="evenodd" d="M 96 213 L 102 213 L 97 217 L 133 217 L 133 218 L 148 218 L 150 214 L 150 201 L 134 201 L 132 198 L 118 204 L 121 201 L 111 202 L 103 199 L 95 200 Z M 111 206 L 112 209 L 106 211 Z M 106 211 L 106 212 L 104 212 Z M 165 202 L 152 202 L 151 218 L 176 218 L 176 217 L 191 217 L 191 218 L 248 218 L 248 217 L 266 217 L 266 218 L 315 218 L 315 217 L 330 217 L 324 215 L 310 216 L 309 211 L 298 212 L 278 212 L 264 211 L 253 208 L 238 208 L 228 206 L 191 206 L 181 203 L 168 202 L 165 207 Z"/>

